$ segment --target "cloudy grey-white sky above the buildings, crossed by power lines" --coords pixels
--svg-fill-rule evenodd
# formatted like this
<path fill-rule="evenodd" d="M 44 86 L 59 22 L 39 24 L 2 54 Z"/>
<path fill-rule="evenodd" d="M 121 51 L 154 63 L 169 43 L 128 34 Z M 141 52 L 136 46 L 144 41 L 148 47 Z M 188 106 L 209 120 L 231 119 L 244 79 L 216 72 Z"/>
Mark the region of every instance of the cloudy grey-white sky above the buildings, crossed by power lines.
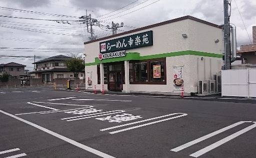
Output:
<path fill-rule="evenodd" d="M 97 38 L 112 34 L 112 21 L 124 23 L 117 33 L 185 15 L 223 24 L 223 0 L 0 0 L 0 64 L 31 71 L 34 60 L 83 53 L 90 34 L 79 17 L 86 11 L 100 25 L 93 26 Z M 256 0 L 231 0 L 237 45 L 252 42 L 255 15 Z"/>

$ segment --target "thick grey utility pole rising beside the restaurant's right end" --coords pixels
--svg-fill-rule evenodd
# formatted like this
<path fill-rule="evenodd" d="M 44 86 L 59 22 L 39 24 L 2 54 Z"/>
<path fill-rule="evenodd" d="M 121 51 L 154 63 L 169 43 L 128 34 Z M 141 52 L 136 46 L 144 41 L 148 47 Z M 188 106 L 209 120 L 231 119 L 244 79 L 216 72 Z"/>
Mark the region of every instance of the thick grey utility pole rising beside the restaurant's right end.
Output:
<path fill-rule="evenodd" d="M 228 6 L 230 6 L 229 0 L 224 0 L 224 70 L 230 69 L 230 58 L 231 58 L 231 49 L 230 49 L 230 25 L 229 25 L 229 17 L 230 10 Z M 231 9 L 231 8 L 230 8 Z"/>

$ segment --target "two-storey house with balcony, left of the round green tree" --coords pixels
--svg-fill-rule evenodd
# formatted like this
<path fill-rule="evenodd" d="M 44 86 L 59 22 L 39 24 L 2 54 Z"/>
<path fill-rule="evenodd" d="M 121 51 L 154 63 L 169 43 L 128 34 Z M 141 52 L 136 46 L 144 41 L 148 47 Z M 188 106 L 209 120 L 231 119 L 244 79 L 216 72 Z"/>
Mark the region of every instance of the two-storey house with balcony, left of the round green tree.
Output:
<path fill-rule="evenodd" d="M 73 72 L 65 68 L 64 61 L 71 57 L 65 55 L 56 55 L 43 60 L 39 60 L 35 64 L 35 69 L 30 73 L 31 78 L 41 78 L 43 82 L 54 82 L 55 78 L 74 78 Z M 78 73 L 80 79 L 84 78 L 84 71 Z"/>

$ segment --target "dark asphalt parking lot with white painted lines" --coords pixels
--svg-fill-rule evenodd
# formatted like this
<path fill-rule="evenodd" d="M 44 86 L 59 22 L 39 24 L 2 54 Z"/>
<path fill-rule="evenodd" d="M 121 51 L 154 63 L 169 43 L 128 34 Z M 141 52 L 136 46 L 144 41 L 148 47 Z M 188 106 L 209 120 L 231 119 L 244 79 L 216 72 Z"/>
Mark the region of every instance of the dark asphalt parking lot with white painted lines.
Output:
<path fill-rule="evenodd" d="M 256 158 L 254 99 L 19 88 L 0 100 L 0 158 Z"/>

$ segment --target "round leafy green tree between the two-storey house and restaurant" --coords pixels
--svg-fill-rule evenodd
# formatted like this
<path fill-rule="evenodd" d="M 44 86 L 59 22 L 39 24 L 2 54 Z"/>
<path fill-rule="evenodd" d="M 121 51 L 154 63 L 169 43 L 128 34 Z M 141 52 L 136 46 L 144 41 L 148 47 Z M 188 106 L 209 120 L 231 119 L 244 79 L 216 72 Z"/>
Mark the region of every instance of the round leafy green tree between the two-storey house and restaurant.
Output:
<path fill-rule="evenodd" d="M 84 60 L 82 55 L 73 54 L 69 55 L 70 59 L 64 61 L 64 66 L 74 73 L 74 77 L 78 77 L 78 73 L 84 69 Z"/>

